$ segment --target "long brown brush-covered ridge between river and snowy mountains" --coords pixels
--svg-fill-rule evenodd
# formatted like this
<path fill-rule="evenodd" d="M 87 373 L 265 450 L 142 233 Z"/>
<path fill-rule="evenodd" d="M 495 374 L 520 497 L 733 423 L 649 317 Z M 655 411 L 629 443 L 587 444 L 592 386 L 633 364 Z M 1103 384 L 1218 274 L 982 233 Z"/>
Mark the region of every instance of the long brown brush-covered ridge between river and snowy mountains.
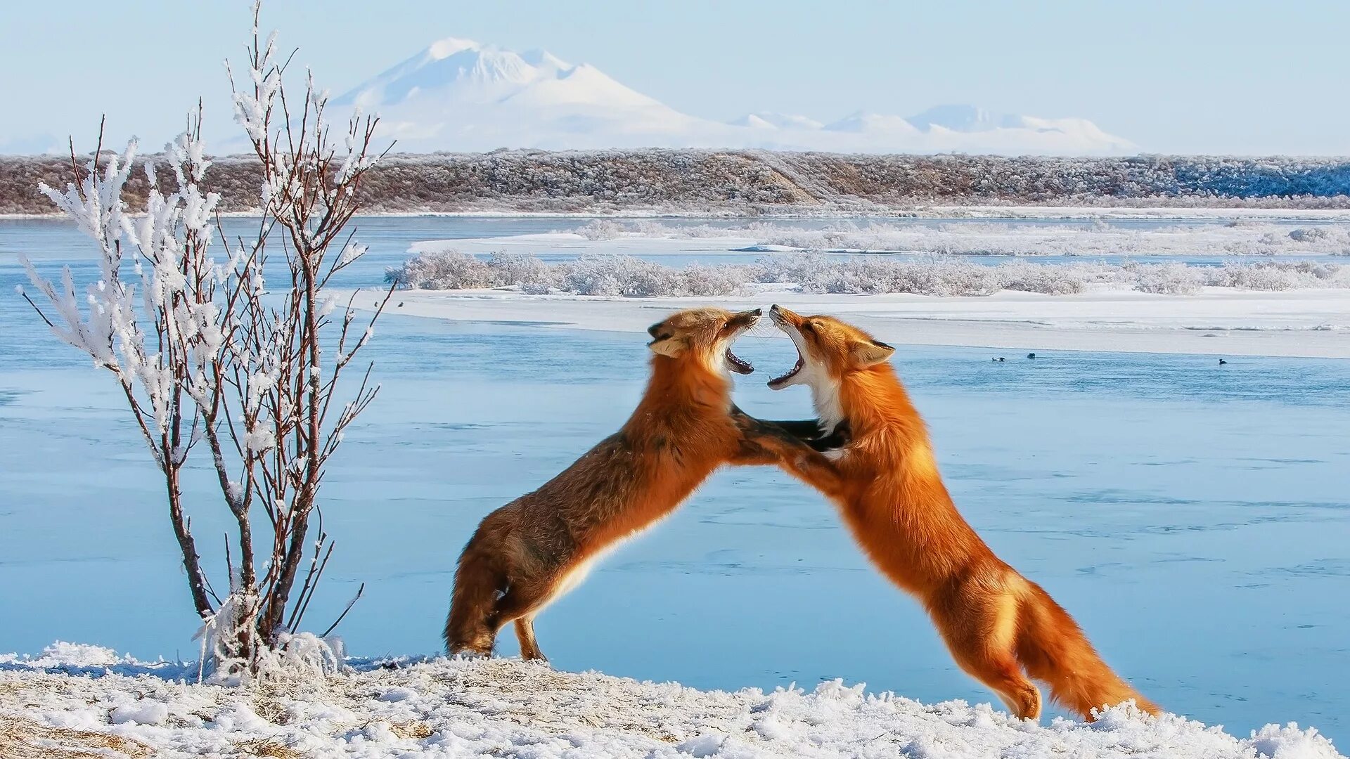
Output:
<path fill-rule="evenodd" d="M 154 157 L 150 157 L 154 161 Z M 139 159 L 138 159 L 139 161 Z M 132 208 L 144 203 L 138 169 Z M 70 161 L 0 158 L 0 213 L 54 213 L 38 182 Z M 171 184 L 167 172 L 161 181 Z M 247 157 L 217 158 L 205 184 L 224 211 L 256 205 Z M 1003 158 L 760 150 L 396 154 L 360 188 L 371 213 L 896 215 L 923 205 L 1350 207 L 1345 158 Z"/>

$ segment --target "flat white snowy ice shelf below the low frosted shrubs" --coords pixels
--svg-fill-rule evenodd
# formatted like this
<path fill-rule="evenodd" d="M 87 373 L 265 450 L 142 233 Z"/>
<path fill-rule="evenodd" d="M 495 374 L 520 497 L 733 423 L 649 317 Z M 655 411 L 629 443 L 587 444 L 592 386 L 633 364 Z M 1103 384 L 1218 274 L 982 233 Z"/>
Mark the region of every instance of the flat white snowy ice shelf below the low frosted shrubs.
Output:
<path fill-rule="evenodd" d="M 374 300 L 374 290 L 367 293 L 370 298 L 364 294 L 356 298 L 358 307 Z M 347 294 L 340 294 L 342 300 Z M 1000 292 L 987 297 L 838 296 L 764 289 L 748 297 L 721 298 L 400 290 L 390 303 L 390 313 L 643 332 L 666 312 L 709 303 L 732 309 L 779 303 L 802 313 L 832 313 L 899 344 L 1350 358 L 1350 290 L 1343 289 L 1272 293 L 1207 288 L 1195 296 Z M 757 328 L 757 334 L 776 336 L 768 327 Z"/>

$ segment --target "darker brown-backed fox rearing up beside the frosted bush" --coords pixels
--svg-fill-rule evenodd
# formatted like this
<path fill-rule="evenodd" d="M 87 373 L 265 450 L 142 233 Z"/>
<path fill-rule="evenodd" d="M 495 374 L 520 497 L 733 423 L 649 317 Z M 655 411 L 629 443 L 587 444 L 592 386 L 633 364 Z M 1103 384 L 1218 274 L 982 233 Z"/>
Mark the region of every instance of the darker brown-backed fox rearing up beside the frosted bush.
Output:
<path fill-rule="evenodd" d="M 760 315 L 690 309 L 648 330 L 652 377 L 624 427 L 533 493 L 487 515 L 464 546 L 446 620 L 451 654 L 490 654 L 497 632 L 514 621 L 521 655 L 543 659 L 535 614 L 724 463 L 776 463 L 829 486 L 833 465 L 822 454 L 732 404 L 729 371 L 753 369 L 730 344 Z M 803 435 L 818 429 L 792 424 Z"/>

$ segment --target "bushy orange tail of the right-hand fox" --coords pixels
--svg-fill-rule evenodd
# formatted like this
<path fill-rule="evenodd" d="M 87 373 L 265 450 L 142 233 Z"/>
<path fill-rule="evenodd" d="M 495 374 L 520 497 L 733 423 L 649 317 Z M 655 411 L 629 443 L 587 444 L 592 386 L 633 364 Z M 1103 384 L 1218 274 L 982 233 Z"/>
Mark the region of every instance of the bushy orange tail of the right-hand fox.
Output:
<path fill-rule="evenodd" d="M 1092 709 L 1131 698 L 1139 709 L 1161 713 L 1102 660 L 1079 623 L 1030 581 L 1021 598 L 1017 656 L 1029 675 L 1050 687 L 1050 697 L 1057 704 L 1085 720 L 1092 718 Z"/>

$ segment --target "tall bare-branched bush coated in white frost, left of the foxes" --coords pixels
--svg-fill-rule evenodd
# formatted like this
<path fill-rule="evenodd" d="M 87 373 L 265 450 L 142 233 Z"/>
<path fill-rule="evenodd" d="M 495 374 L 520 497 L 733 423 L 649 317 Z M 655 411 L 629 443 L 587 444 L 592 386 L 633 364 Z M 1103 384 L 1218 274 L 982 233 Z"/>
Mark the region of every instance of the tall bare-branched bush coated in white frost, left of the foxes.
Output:
<path fill-rule="evenodd" d="M 354 392 L 340 382 L 344 369 L 355 366 L 393 293 L 358 319 L 351 301 L 340 308 L 327 289 L 366 253 L 344 227 L 379 155 L 371 150 L 374 120 L 354 116 L 331 128 L 328 96 L 312 78 L 302 97 L 292 90 L 305 119 L 285 116 L 285 58 L 274 35 L 256 34 L 258 15 L 255 3 L 247 73 L 231 89 L 261 172 L 251 186 L 262 232 L 231 239 L 220 228 L 221 197 L 205 192 L 215 162 L 205 157 L 198 108 L 158 169 L 135 163 L 135 140 L 101 161 L 94 150 L 82 167 L 72 150 L 61 189 L 39 189 L 90 238 L 99 277 L 80 297 L 69 267 L 55 285 L 23 259 L 36 300 L 19 288 L 58 339 L 117 381 L 165 478 L 169 525 L 204 623 L 204 663 L 238 678 L 267 666 L 338 666 L 340 652 L 300 633 L 332 552 L 323 520 L 315 532 L 309 525 L 327 493 L 320 485 L 329 458 L 378 392 L 370 365 Z M 124 192 L 134 167 L 147 188 L 138 215 Z M 282 238 L 285 262 L 273 271 L 267 261 Z M 200 469 L 211 470 L 217 497 L 184 486 L 194 450 L 211 462 Z M 205 509 L 224 512 L 230 525 L 215 586 L 192 533 L 193 513 Z"/>

